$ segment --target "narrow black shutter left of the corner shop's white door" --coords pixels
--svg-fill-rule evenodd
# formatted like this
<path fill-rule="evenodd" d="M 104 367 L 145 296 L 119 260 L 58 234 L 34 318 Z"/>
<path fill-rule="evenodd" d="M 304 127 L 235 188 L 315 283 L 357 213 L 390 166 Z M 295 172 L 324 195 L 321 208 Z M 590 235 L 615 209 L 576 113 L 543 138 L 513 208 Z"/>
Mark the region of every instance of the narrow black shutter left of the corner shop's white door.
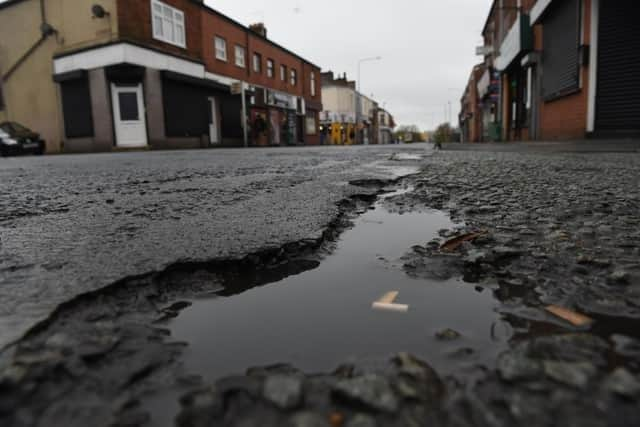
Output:
<path fill-rule="evenodd" d="M 89 79 L 81 78 L 60 82 L 62 112 L 67 138 L 87 138 L 93 136 L 93 115 L 91 114 L 91 93 Z"/>

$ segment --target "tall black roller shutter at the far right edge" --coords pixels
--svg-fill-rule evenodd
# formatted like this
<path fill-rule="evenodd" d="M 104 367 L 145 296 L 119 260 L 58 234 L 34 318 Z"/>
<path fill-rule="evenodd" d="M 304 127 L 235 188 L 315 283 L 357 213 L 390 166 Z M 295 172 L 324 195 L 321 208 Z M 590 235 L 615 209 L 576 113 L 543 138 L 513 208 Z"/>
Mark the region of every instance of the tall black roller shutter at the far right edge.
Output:
<path fill-rule="evenodd" d="M 596 131 L 640 132 L 638 0 L 600 2 Z"/>

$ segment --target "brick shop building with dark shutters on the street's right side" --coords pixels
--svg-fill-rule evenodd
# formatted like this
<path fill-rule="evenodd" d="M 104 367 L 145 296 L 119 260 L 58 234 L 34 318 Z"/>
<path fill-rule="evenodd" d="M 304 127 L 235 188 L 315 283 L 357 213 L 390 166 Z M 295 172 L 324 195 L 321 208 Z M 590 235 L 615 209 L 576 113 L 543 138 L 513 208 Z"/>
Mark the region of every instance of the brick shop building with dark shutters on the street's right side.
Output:
<path fill-rule="evenodd" d="M 492 128 L 507 141 L 639 135 L 635 3 L 495 0 L 479 48 L 483 138 Z"/>

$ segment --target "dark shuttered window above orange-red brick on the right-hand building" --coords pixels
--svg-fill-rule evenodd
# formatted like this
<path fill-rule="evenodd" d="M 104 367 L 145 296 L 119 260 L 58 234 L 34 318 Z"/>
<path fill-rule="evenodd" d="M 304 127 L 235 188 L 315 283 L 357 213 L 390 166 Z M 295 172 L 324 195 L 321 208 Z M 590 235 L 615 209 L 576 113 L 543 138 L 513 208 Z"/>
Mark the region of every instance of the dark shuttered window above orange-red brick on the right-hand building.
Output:
<path fill-rule="evenodd" d="M 552 99 L 578 89 L 579 0 L 556 1 L 542 21 L 542 90 Z"/>

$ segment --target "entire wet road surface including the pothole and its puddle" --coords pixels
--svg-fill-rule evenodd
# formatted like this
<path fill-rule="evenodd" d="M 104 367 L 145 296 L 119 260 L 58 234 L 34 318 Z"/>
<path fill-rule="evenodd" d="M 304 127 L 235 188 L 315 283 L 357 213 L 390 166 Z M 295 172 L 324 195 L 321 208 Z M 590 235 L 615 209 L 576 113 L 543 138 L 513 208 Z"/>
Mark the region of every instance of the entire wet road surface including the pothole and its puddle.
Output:
<path fill-rule="evenodd" d="M 0 424 L 634 425 L 636 147 L 3 161 Z"/>

